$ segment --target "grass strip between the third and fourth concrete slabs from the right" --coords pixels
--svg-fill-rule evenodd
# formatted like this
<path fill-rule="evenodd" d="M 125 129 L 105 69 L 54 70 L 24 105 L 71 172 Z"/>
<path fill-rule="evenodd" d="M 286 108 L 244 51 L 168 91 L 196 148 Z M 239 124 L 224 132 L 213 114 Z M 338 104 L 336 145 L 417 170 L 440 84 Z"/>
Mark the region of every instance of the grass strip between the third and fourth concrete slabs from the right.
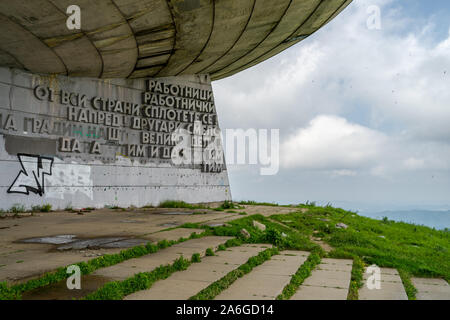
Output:
<path fill-rule="evenodd" d="M 308 259 L 298 268 L 297 272 L 291 277 L 291 281 L 284 287 L 283 292 L 277 297 L 277 300 L 289 300 L 300 285 L 311 275 L 311 272 L 321 261 L 324 252 L 316 249 L 308 256 Z"/>

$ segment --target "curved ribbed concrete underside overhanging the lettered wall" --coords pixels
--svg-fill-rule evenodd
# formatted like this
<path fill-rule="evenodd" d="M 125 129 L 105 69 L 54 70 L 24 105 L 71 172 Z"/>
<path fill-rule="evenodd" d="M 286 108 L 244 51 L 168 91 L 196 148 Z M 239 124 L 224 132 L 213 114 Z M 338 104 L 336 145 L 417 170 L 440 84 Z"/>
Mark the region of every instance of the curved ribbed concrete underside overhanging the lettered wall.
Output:
<path fill-rule="evenodd" d="M 98 78 L 252 67 L 298 43 L 352 0 L 0 0 L 0 65 Z M 81 8 L 81 30 L 66 10 Z"/>

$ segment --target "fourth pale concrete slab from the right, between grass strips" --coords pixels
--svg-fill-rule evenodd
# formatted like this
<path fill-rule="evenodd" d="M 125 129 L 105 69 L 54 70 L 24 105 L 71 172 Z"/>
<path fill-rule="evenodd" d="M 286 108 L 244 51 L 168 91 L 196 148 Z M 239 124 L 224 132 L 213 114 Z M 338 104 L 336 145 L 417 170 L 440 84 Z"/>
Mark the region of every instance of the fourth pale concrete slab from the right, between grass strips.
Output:
<path fill-rule="evenodd" d="M 282 251 L 236 280 L 216 300 L 274 300 L 308 255 L 304 251 Z"/>

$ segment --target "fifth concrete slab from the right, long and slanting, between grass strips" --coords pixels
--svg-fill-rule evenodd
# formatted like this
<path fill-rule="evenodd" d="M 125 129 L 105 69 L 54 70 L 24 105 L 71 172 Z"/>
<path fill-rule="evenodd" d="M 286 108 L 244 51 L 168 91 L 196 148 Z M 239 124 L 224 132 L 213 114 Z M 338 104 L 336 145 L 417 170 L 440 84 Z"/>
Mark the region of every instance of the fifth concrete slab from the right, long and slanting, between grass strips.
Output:
<path fill-rule="evenodd" d="M 215 256 L 204 257 L 201 263 L 194 263 L 187 270 L 176 272 L 125 300 L 187 300 L 269 247 L 267 244 L 246 244 L 218 251 Z"/>

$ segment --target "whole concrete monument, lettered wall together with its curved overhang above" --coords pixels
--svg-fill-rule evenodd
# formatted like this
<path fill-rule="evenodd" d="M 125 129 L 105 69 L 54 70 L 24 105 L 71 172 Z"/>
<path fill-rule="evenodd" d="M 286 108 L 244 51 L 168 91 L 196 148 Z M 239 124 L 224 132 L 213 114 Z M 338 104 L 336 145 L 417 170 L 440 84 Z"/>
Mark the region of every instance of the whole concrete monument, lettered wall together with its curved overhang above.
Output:
<path fill-rule="evenodd" d="M 350 2 L 0 1 L 0 209 L 230 200 L 211 81 Z"/>

